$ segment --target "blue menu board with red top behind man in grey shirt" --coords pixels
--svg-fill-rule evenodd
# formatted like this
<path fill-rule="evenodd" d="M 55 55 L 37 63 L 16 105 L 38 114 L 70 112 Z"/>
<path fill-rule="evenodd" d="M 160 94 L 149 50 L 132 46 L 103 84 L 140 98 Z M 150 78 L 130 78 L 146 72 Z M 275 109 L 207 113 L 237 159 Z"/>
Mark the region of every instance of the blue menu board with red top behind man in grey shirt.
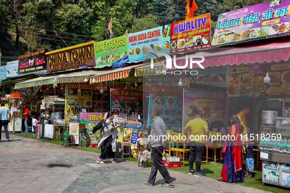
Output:
<path fill-rule="evenodd" d="M 151 86 L 149 98 L 148 126 L 152 126 L 151 110 L 160 109 L 160 118 L 167 126 L 182 126 L 183 90 L 163 86 Z"/>

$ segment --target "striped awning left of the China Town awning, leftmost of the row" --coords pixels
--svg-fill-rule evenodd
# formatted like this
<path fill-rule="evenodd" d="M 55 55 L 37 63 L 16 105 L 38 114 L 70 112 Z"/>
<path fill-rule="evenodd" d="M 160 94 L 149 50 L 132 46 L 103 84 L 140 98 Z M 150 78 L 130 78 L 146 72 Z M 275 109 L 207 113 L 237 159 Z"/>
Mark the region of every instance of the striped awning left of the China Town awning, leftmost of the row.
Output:
<path fill-rule="evenodd" d="M 57 75 L 41 76 L 41 77 L 33 78 L 30 80 L 26 80 L 24 82 L 16 83 L 15 89 L 27 88 L 27 87 L 32 87 L 32 86 L 40 86 L 40 85 L 46 85 L 46 84 L 53 84 L 53 79 L 56 76 Z"/>

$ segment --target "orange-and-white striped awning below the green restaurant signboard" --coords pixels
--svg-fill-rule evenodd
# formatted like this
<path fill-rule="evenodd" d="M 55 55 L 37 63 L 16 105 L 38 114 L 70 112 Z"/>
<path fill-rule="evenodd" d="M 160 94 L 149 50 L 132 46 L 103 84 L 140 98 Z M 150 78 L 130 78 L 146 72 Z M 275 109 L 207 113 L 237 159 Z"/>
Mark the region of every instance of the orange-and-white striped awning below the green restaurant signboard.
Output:
<path fill-rule="evenodd" d="M 132 69 L 138 68 L 143 66 L 142 64 L 137 64 L 137 65 L 132 65 L 132 66 L 126 66 L 123 68 L 111 70 L 109 72 L 104 72 L 98 75 L 94 75 L 90 77 L 90 83 L 95 83 L 95 82 L 105 82 L 109 80 L 115 80 L 119 78 L 126 78 L 129 74 L 129 72 Z M 95 79 L 95 80 L 93 80 Z"/>

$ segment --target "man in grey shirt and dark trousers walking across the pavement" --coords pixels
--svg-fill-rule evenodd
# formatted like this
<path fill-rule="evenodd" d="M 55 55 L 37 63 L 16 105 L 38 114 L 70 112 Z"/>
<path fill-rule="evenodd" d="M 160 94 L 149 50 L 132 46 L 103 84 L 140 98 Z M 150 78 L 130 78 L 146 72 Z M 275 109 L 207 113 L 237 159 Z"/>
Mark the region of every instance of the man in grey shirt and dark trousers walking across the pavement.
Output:
<path fill-rule="evenodd" d="M 153 124 L 151 133 L 149 136 L 149 140 L 152 147 L 151 159 L 152 159 L 152 167 L 151 173 L 149 176 L 149 180 L 144 182 L 144 184 L 149 186 L 154 186 L 155 178 L 157 175 L 157 170 L 159 170 L 160 174 L 164 178 L 166 184 L 162 184 L 162 187 L 173 188 L 173 179 L 167 171 L 166 166 L 162 161 L 162 153 L 163 147 L 165 147 L 165 143 L 162 141 L 162 136 L 166 136 L 166 125 L 164 121 L 159 117 L 160 110 L 158 107 L 155 107 L 151 111 L 151 117 L 153 117 Z"/>

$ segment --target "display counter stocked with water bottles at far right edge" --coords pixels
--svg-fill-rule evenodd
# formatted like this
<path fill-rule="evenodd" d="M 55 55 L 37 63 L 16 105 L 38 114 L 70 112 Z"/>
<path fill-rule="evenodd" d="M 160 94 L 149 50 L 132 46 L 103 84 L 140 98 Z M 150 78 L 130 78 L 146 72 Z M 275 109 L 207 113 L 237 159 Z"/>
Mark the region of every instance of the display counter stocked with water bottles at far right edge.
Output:
<path fill-rule="evenodd" d="M 290 118 L 277 117 L 275 125 L 261 126 L 262 185 L 267 183 L 290 188 L 289 123 Z"/>

